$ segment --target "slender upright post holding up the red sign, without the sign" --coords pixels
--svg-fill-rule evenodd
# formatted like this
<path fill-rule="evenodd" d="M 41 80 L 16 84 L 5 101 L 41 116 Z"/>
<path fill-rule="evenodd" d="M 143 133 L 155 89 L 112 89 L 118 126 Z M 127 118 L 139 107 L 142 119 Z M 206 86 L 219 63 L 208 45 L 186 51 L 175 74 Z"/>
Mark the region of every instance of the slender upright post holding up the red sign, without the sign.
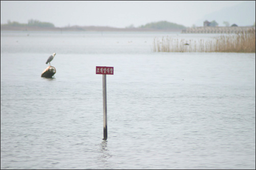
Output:
<path fill-rule="evenodd" d="M 108 138 L 108 126 L 107 126 L 107 79 L 106 75 L 103 75 L 103 140 Z"/>

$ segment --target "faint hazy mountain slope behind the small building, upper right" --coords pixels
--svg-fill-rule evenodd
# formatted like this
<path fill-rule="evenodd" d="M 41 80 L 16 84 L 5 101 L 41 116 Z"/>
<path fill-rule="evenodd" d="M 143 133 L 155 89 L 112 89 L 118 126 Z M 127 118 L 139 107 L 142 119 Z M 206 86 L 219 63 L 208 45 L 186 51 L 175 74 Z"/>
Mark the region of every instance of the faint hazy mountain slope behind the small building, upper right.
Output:
<path fill-rule="evenodd" d="M 199 19 L 195 25 L 203 26 L 205 20 L 210 22 L 215 20 L 219 26 L 224 26 L 224 21 L 227 21 L 230 25 L 235 23 L 238 26 L 251 26 L 255 22 L 255 1 L 246 1 L 233 7 L 212 12 Z"/>

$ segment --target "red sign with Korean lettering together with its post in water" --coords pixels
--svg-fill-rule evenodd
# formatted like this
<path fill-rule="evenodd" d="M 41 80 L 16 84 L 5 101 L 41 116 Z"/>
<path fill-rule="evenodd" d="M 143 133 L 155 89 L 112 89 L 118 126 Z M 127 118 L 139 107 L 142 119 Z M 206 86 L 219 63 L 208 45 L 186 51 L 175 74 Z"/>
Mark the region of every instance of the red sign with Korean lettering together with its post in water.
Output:
<path fill-rule="evenodd" d="M 107 124 L 107 76 L 114 75 L 114 67 L 96 66 L 96 74 L 103 75 L 103 140 L 108 138 L 108 124 Z"/>

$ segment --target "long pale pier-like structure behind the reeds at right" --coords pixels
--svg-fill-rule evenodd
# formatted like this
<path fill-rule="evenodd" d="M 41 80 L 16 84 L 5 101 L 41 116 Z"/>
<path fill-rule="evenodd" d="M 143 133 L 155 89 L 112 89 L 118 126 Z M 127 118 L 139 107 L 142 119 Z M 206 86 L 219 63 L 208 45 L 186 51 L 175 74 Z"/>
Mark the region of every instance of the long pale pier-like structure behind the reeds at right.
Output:
<path fill-rule="evenodd" d="M 254 29 L 251 26 L 201 26 L 183 29 L 182 33 L 238 33 Z"/>

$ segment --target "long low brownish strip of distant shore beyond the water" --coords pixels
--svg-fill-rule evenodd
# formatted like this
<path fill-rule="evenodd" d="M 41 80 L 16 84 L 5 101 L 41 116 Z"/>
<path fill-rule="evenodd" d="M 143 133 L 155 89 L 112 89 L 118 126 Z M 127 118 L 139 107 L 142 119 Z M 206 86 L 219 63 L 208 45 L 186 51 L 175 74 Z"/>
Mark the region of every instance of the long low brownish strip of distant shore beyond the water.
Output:
<path fill-rule="evenodd" d="M 115 28 L 107 26 L 71 26 L 71 27 L 34 27 L 1 25 L 2 30 L 14 31 L 152 31 L 152 32 L 181 32 L 182 29 L 152 29 L 152 28 Z"/>

